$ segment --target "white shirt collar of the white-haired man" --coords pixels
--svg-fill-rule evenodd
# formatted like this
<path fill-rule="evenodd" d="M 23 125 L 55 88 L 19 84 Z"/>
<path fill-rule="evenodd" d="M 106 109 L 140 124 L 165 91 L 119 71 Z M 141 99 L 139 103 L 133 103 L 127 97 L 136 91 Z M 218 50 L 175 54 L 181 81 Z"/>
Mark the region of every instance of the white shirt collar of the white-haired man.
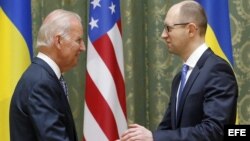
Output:
<path fill-rule="evenodd" d="M 61 71 L 58 65 L 51 58 L 49 58 L 49 56 L 47 56 L 46 54 L 42 52 L 39 52 L 37 54 L 37 57 L 44 60 L 52 68 L 52 70 L 55 72 L 58 79 L 61 77 Z"/>

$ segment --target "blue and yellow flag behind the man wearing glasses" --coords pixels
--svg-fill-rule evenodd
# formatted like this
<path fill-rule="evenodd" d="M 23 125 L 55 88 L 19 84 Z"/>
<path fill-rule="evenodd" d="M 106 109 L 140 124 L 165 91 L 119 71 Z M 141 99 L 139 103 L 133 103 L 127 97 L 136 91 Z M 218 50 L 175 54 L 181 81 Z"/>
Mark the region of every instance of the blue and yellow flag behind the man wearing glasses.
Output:
<path fill-rule="evenodd" d="M 206 43 L 215 54 L 234 64 L 228 0 L 196 0 L 205 9 L 208 27 Z M 236 124 L 239 123 L 237 114 Z"/>

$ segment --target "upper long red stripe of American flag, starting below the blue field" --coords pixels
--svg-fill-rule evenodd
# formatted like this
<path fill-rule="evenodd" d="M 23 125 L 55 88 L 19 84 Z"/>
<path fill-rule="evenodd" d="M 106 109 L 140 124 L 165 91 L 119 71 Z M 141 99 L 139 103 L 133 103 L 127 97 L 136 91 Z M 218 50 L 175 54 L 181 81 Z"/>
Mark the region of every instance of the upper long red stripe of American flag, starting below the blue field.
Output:
<path fill-rule="evenodd" d="M 116 85 L 116 91 L 118 94 L 118 99 L 122 107 L 123 114 L 125 117 L 127 117 L 125 84 L 109 36 L 107 34 L 103 35 L 101 38 L 97 39 L 93 43 L 93 46 L 95 47 L 96 51 L 101 56 L 102 60 L 105 62 L 106 66 L 108 67 L 110 73 L 113 76 Z"/>

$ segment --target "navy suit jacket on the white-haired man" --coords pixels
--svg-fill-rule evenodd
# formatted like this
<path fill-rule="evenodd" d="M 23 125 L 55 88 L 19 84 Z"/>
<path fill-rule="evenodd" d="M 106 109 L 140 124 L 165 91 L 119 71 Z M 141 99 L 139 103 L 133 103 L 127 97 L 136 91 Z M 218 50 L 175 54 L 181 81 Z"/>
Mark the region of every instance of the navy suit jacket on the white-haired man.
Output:
<path fill-rule="evenodd" d="M 11 141 L 77 141 L 69 103 L 49 65 L 34 58 L 10 105 Z"/>

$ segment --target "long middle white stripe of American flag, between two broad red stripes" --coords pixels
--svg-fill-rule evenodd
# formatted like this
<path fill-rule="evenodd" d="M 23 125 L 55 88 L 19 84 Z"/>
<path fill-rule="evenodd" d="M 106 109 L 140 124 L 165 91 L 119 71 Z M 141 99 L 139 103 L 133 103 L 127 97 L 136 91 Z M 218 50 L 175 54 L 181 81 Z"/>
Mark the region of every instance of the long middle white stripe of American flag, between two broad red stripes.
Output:
<path fill-rule="evenodd" d="M 118 133 L 121 135 L 127 129 L 127 122 L 118 100 L 113 77 L 90 40 L 88 40 L 87 53 L 87 71 L 112 110 Z"/>

